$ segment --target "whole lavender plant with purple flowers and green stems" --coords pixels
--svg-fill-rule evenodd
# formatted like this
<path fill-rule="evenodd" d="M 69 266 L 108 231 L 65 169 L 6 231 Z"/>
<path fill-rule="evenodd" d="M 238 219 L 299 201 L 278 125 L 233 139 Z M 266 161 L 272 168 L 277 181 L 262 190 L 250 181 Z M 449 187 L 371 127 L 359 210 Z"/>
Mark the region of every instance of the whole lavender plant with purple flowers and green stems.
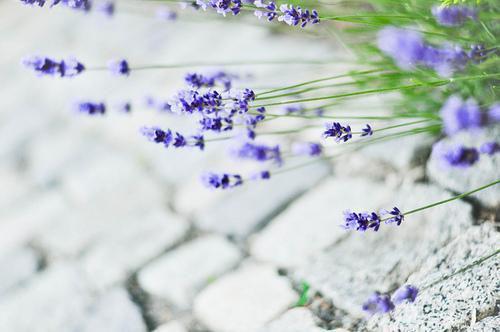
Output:
<path fill-rule="evenodd" d="M 21 0 L 26 5 L 44 7 L 44 0 Z M 48 2 L 48 1 L 47 1 Z M 146 1 L 144 1 L 146 2 Z M 212 172 L 201 176 L 213 189 L 231 189 L 252 181 L 267 181 L 279 174 L 339 158 L 343 154 L 372 144 L 383 144 L 410 135 L 435 137 L 432 157 L 444 167 L 471 168 L 480 158 L 491 158 L 500 152 L 500 142 L 477 142 L 475 146 L 447 146 L 439 139 L 462 131 L 480 131 L 500 121 L 498 101 L 499 54 L 498 24 L 500 4 L 483 0 L 468 1 L 375 0 L 345 2 L 329 6 L 319 1 L 267 0 L 163 0 L 158 7 L 167 20 L 182 20 L 193 15 L 200 18 L 227 16 L 256 19 L 279 33 L 323 35 L 335 30 L 344 46 L 353 53 L 360 70 L 326 73 L 309 81 L 297 81 L 271 89 L 257 89 L 230 71 L 195 72 L 185 76 L 185 87 L 162 100 L 148 99 L 147 105 L 168 114 L 192 120 L 196 130 L 178 132 L 175 128 L 145 126 L 139 129 L 147 140 L 168 149 L 195 148 L 231 142 L 230 154 L 256 163 L 256 171 L 242 174 L 239 170 Z M 85 13 L 103 12 L 119 15 L 118 2 L 90 0 L 52 0 L 50 7 L 68 7 Z M 177 9 L 171 9 L 176 6 Z M 68 13 L 69 15 L 70 13 Z M 77 14 L 77 13 L 71 13 Z M 158 15 L 158 14 L 157 14 Z M 151 13 L 151 18 L 155 14 Z M 265 22 L 264 22 L 265 21 Z M 245 21 L 247 22 L 247 21 Z M 298 28 L 298 29 L 295 29 Z M 299 31 L 297 31 L 299 30 Z M 230 63 L 163 63 L 135 64 L 127 59 L 111 60 L 107 65 L 91 66 L 75 59 L 58 60 L 47 56 L 26 58 L 23 64 L 40 76 L 78 79 L 88 71 L 106 71 L 133 79 L 136 71 L 203 66 L 272 65 L 290 63 L 328 65 L 329 59 L 262 59 Z M 328 67 L 327 67 L 328 68 Z M 387 112 L 366 115 L 339 115 L 337 110 L 346 100 L 367 95 L 398 93 L 400 98 L 387 105 Z M 81 96 L 75 96 L 81 97 Z M 135 112 L 137 101 L 124 101 L 116 109 Z M 88 115 L 105 115 L 112 109 L 105 101 L 85 100 L 77 110 Z M 279 119 L 300 119 L 301 125 L 283 130 L 270 130 Z M 366 120 L 362 126 L 352 121 Z M 271 125 L 270 125 L 271 124 Z M 264 129 L 268 128 L 268 129 Z M 315 141 L 302 141 L 300 133 L 315 131 Z M 261 137 L 287 137 L 286 144 L 269 145 Z M 330 145 L 333 141 L 338 145 Z M 340 149 L 341 150 L 340 150 Z M 202 153 L 202 152 L 200 152 Z M 289 165 L 294 158 L 305 157 L 298 166 Z M 378 231 L 383 225 L 399 226 L 407 217 L 455 199 L 496 186 L 500 179 L 459 194 L 451 199 L 431 202 L 410 211 L 398 207 L 372 212 L 347 211 L 344 227 L 356 231 Z M 340 216 L 339 216 L 340 218 Z M 497 252 L 498 253 L 498 252 Z M 424 288 L 419 288 L 422 291 Z M 406 285 L 392 296 L 376 293 L 363 309 L 369 313 L 386 313 L 395 305 L 413 302 L 417 287 Z"/>

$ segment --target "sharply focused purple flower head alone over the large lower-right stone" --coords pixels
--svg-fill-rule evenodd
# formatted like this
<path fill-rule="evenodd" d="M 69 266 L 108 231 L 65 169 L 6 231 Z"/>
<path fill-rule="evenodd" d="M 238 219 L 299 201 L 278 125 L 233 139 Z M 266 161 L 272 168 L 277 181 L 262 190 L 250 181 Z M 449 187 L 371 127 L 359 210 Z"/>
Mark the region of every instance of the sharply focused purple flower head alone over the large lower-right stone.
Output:
<path fill-rule="evenodd" d="M 388 217 L 382 219 L 381 217 L 384 215 Z M 370 228 L 375 232 L 378 231 L 382 221 L 385 221 L 386 224 L 396 223 L 399 226 L 403 220 L 404 214 L 397 207 L 390 211 L 382 210 L 379 214 L 376 212 L 344 212 L 344 228 L 361 232 Z"/>

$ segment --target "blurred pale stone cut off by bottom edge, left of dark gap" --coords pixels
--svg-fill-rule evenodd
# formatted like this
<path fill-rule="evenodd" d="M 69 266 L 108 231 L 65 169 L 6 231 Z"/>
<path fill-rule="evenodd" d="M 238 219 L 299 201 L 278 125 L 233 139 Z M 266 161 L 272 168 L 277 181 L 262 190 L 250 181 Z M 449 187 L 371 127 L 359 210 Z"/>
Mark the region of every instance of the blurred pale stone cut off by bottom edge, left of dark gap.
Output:
<path fill-rule="evenodd" d="M 116 288 L 102 295 L 87 311 L 79 331 L 84 332 L 146 332 L 139 308 L 127 292 Z"/>

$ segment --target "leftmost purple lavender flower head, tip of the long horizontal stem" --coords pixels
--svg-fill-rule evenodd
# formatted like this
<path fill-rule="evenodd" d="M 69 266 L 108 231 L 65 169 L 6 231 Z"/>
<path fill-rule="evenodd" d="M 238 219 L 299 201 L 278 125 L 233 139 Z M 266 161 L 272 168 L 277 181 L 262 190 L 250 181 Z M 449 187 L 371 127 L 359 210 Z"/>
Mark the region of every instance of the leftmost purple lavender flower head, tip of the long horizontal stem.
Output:
<path fill-rule="evenodd" d="M 25 58 L 23 64 L 39 75 L 73 77 L 85 70 L 85 66 L 75 59 L 53 60 L 48 57 Z"/>

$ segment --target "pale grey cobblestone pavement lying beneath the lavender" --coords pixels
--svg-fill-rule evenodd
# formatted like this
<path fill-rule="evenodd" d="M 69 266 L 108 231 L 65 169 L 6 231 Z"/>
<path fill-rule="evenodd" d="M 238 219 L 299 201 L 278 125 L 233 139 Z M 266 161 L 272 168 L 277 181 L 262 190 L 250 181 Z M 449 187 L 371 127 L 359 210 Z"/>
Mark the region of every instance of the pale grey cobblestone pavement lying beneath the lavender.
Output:
<path fill-rule="evenodd" d="M 199 172 L 237 165 L 219 147 L 172 153 L 137 134 L 145 124 L 188 128 L 184 119 L 140 108 L 102 118 L 69 110 L 78 97 L 168 96 L 183 70 L 58 80 L 19 65 L 33 53 L 96 66 L 119 57 L 139 64 L 285 58 L 297 45 L 304 57 L 342 57 L 329 43 L 237 22 L 126 14 L 108 21 L 15 1 L 0 2 L 0 16 L 0 331 L 498 329 L 498 259 L 422 291 L 391 315 L 360 312 L 373 291 L 426 285 L 498 246 L 498 186 L 412 215 L 397 229 L 339 227 L 347 208 L 411 209 L 497 179 L 498 155 L 470 174 L 444 173 L 427 161 L 432 142 L 414 136 L 211 192 Z M 238 70 L 255 73 L 256 86 L 321 76 L 318 67 Z M 373 108 L 377 100 L 362 103 Z M 297 307 L 303 282 L 311 289 Z"/>

